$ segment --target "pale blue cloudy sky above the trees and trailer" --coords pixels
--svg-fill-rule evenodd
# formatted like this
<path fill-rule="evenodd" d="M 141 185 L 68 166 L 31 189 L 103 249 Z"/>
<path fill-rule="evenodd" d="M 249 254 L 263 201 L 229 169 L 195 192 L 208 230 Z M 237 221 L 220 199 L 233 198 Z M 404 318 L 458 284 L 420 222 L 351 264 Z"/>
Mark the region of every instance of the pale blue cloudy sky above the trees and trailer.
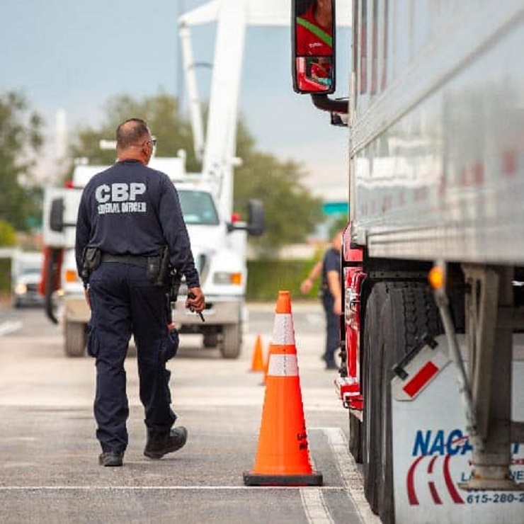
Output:
<path fill-rule="evenodd" d="M 263 0 L 261 0 L 263 1 Z M 47 161 L 55 154 L 55 115 L 64 110 L 69 132 L 95 126 L 108 99 L 163 91 L 187 107 L 178 59 L 176 19 L 205 0 L 2 0 L 0 92 L 21 91 L 47 123 Z M 347 31 L 347 30 L 346 30 Z M 346 33 L 347 35 L 348 33 Z M 193 29 L 196 62 L 211 63 L 215 24 Z M 348 94 L 348 38 L 338 38 L 338 86 Z M 347 50 L 344 49 L 347 47 Z M 257 149 L 292 159 L 304 183 L 347 195 L 348 131 L 329 125 L 329 113 L 292 90 L 289 28 L 248 28 L 240 99 L 241 118 Z M 205 100 L 211 70 L 198 68 Z M 154 132 L 154 130 L 153 130 Z M 42 173 L 49 178 L 49 173 Z"/>

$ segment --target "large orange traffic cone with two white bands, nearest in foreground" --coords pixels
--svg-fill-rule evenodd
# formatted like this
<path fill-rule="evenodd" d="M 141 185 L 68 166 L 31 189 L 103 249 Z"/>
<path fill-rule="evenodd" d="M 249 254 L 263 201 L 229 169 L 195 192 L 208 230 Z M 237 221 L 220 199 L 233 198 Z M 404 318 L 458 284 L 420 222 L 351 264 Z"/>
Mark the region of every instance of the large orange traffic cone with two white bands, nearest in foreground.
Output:
<path fill-rule="evenodd" d="M 309 460 L 290 295 L 278 293 L 266 394 L 253 471 L 246 486 L 321 486 Z"/>

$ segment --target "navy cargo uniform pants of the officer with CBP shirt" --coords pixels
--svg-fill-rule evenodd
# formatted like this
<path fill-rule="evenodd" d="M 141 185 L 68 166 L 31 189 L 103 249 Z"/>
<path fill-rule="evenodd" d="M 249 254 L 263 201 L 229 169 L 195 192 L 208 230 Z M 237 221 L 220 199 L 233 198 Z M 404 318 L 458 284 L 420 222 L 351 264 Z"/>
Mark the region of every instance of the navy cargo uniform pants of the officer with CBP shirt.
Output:
<path fill-rule="evenodd" d="M 176 420 L 166 362 L 176 355 L 178 334 L 168 331 L 167 287 L 149 281 L 146 269 L 102 263 L 89 278 L 91 322 L 87 351 L 96 358 L 94 414 L 103 451 L 127 448 L 129 405 L 124 360 L 131 334 L 137 346 L 140 400 L 145 424 L 169 431 Z"/>

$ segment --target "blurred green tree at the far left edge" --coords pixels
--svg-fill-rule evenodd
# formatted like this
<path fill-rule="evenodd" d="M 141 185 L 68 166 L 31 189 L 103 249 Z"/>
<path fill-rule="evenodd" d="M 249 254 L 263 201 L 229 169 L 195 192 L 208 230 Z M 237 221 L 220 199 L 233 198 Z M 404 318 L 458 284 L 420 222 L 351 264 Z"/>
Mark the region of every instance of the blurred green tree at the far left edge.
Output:
<path fill-rule="evenodd" d="M 41 215 L 32 169 L 43 143 L 43 120 L 21 93 L 0 93 L 0 220 L 19 231 Z"/>

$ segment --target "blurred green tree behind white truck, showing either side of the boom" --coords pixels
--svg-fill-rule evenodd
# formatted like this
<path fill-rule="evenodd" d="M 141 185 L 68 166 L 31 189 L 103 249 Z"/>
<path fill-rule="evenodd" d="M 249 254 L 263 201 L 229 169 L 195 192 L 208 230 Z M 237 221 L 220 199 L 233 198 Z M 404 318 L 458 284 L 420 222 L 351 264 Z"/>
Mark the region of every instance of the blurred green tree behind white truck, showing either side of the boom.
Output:
<path fill-rule="evenodd" d="M 142 100 L 130 96 L 111 98 L 101 125 L 77 132 L 70 148 L 72 159 L 86 157 L 90 164 L 112 164 L 114 150 L 101 150 L 99 142 L 113 139 L 118 124 L 132 116 L 146 120 L 158 139 L 156 156 L 176 156 L 179 149 L 184 149 L 187 170 L 200 171 L 190 125 L 180 118 L 176 98 L 165 93 Z M 237 155 L 243 164 L 234 173 L 234 210 L 246 217 L 250 198 L 261 199 L 266 209 L 266 233 L 251 239 L 258 252 L 272 256 L 280 246 L 303 241 L 321 220 L 321 202 L 301 185 L 305 173 L 300 165 L 257 151 L 254 138 L 242 123 L 237 132 Z"/>

